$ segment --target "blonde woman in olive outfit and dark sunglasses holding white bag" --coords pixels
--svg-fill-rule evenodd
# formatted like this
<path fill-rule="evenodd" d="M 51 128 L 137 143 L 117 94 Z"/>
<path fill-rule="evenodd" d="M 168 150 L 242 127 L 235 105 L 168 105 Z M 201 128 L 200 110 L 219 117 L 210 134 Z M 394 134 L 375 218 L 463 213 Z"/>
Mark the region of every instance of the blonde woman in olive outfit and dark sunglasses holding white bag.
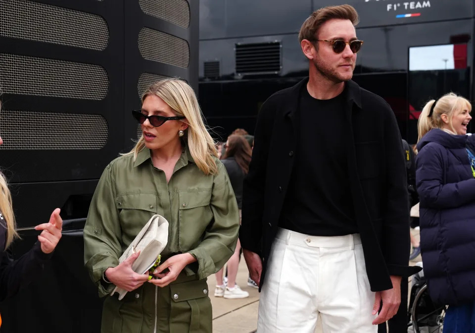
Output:
<path fill-rule="evenodd" d="M 105 296 L 102 333 L 211 333 L 206 277 L 233 255 L 236 198 L 196 96 L 178 79 L 150 86 L 134 117 L 142 137 L 102 173 L 84 228 L 86 267 Z M 154 214 L 170 223 L 156 278 L 119 257 Z M 128 290 L 119 301 L 115 286 Z"/>

